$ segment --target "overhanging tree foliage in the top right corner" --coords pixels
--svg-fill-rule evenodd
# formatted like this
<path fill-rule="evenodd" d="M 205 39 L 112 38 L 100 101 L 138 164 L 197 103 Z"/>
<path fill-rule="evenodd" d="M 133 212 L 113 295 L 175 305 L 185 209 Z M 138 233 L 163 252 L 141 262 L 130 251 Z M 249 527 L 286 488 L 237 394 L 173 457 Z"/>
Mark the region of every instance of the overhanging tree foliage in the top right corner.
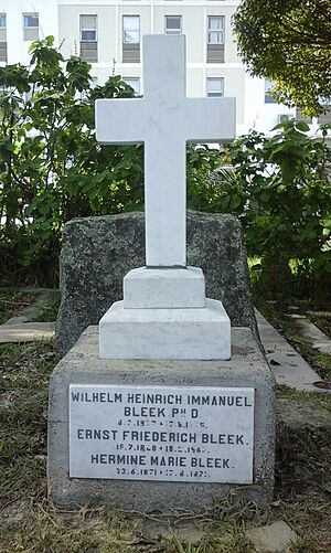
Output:
<path fill-rule="evenodd" d="M 242 0 L 233 22 L 243 62 L 276 82 L 279 102 L 308 116 L 330 107 L 330 0 Z"/>

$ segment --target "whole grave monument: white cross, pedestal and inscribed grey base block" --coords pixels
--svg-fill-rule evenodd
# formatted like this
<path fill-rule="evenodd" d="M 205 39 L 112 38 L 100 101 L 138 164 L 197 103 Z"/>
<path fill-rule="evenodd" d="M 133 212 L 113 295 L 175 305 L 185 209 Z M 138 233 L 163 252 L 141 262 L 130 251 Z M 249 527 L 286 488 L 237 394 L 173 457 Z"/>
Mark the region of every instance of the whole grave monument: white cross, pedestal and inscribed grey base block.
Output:
<path fill-rule="evenodd" d="M 274 379 L 252 330 L 233 329 L 231 357 L 223 304 L 185 256 L 185 142 L 233 138 L 234 102 L 185 98 L 184 36 L 146 36 L 143 56 L 146 97 L 99 100 L 97 137 L 145 142 L 147 264 L 54 370 L 50 496 L 140 511 L 200 511 L 237 487 L 270 499 Z"/>

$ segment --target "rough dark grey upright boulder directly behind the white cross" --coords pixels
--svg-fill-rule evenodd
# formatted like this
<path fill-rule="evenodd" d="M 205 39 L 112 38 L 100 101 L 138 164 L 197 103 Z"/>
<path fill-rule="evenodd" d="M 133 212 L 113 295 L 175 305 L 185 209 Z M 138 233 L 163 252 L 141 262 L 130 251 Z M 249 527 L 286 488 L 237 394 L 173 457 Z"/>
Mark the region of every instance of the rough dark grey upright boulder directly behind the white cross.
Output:
<path fill-rule="evenodd" d="M 76 219 L 65 225 L 56 325 L 62 354 L 122 299 L 122 278 L 143 265 L 143 213 Z M 189 212 L 188 265 L 203 269 L 206 296 L 223 301 L 232 326 L 249 327 L 257 336 L 239 222 L 232 215 Z"/>

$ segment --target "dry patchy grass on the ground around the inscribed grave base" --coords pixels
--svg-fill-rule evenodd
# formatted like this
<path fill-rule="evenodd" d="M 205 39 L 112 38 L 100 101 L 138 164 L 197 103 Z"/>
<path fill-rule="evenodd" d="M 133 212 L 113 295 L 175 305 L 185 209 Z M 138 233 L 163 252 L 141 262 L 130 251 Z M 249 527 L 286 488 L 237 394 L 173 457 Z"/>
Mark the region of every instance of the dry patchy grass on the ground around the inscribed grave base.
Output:
<path fill-rule="evenodd" d="M 323 427 L 289 427 L 279 418 L 276 491 L 271 506 L 235 500 L 210 511 L 142 515 L 106 508 L 55 509 L 46 498 L 47 383 L 53 342 L 0 345 L 1 552 L 253 553 L 245 531 L 285 520 L 297 553 L 331 550 L 331 436 Z M 282 386 L 285 407 L 331 412 L 330 396 Z"/>

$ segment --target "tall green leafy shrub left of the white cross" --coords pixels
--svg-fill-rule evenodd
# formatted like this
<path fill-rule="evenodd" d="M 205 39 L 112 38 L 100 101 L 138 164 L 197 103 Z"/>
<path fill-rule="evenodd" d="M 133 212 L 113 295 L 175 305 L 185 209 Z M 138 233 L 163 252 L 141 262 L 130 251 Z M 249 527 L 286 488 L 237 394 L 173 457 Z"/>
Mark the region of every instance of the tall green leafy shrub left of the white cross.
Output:
<path fill-rule="evenodd" d="M 142 148 L 100 146 L 98 97 L 130 97 L 119 76 L 93 88 L 90 66 L 65 61 L 53 39 L 35 42 L 30 66 L 0 68 L 0 238 L 7 274 L 52 284 L 65 221 L 142 206 Z"/>

